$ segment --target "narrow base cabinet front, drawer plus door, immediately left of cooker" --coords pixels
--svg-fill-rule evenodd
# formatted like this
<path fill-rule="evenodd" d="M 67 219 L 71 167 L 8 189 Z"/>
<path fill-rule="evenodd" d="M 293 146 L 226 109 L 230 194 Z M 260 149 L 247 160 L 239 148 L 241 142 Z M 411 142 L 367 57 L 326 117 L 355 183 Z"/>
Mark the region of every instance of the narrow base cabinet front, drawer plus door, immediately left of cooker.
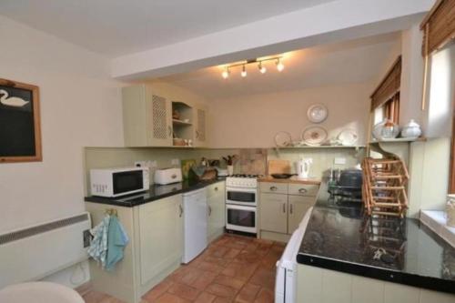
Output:
<path fill-rule="evenodd" d="M 207 240 L 213 241 L 226 227 L 225 182 L 207 187 Z"/>

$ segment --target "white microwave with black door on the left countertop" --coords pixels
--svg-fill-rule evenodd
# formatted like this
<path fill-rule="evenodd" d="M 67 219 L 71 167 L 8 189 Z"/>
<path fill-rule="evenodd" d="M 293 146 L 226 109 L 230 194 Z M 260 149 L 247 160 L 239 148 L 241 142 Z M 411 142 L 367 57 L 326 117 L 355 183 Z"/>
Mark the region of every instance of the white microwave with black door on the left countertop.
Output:
<path fill-rule="evenodd" d="M 148 167 L 90 169 L 92 196 L 119 197 L 148 190 Z"/>

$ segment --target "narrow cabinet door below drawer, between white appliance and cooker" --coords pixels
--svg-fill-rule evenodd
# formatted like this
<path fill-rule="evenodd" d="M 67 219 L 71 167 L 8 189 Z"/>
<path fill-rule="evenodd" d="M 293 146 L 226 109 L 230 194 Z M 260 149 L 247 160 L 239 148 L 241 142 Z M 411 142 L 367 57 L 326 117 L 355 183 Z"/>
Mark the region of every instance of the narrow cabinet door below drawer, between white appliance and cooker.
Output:
<path fill-rule="evenodd" d="M 226 227 L 226 204 L 224 193 L 208 197 L 207 237 L 211 241 Z"/>

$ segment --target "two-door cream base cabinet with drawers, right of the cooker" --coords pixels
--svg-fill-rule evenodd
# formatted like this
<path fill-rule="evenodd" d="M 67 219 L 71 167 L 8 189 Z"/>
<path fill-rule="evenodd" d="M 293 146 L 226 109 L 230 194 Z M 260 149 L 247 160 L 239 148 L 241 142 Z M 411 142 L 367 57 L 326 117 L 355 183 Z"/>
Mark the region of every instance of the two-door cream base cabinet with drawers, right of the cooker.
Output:
<path fill-rule="evenodd" d="M 286 241 L 316 202 L 318 185 L 261 182 L 260 237 Z"/>

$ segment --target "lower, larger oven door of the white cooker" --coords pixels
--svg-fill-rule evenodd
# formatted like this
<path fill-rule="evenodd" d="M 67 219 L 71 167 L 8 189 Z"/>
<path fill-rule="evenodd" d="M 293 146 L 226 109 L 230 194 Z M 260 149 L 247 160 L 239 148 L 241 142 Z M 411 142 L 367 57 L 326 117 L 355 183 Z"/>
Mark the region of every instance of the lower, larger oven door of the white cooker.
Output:
<path fill-rule="evenodd" d="M 256 207 L 226 205 L 226 228 L 256 234 L 258 232 Z"/>

